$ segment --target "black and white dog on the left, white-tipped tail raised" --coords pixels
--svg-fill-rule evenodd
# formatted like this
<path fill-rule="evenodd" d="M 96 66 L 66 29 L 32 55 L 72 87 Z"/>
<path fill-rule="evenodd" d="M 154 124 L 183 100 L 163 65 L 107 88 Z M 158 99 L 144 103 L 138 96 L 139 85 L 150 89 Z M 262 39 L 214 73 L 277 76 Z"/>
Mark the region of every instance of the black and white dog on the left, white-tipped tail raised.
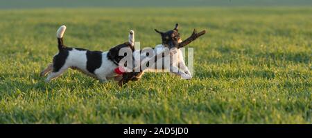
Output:
<path fill-rule="evenodd" d="M 58 54 L 53 57 L 53 62 L 40 73 L 41 76 L 49 73 L 46 82 L 59 77 L 68 68 L 79 70 L 102 82 L 109 79 L 121 79 L 121 75 L 115 71 L 119 66 L 119 61 L 123 58 L 123 56 L 118 55 L 118 51 L 121 48 L 134 50 L 135 34 L 133 30 L 130 30 L 128 42 L 115 46 L 106 52 L 65 46 L 63 42 L 65 30 L 66 26 L 60 26 L 58 29 L 56 33 L 56 37 L 58 38 Z"/>

